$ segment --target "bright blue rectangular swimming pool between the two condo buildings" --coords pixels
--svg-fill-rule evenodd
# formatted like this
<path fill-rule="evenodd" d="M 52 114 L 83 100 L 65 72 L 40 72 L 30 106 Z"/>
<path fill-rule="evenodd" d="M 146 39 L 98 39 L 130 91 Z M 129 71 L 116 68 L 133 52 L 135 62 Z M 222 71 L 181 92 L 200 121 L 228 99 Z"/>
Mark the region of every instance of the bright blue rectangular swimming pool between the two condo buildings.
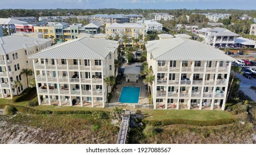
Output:
<path fill-rule="evenodd" d="M 127 86 L 122 87 L 119 102 L 137 104 L 139 102 L 140 87 Z"/>

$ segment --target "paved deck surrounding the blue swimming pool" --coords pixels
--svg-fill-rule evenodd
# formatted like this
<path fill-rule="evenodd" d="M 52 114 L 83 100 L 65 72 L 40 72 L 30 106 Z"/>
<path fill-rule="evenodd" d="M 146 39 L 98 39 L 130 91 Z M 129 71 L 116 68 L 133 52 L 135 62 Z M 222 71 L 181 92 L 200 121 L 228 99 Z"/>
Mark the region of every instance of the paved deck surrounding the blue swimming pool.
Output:
<path fill-rule="evenodd" d="M 119 97 L 121 95 L 121 90 L 123 86 L 134 85 L 136 87 L 140 87 L 140 95 L 139 95 L 139 103 L 138 104 L 149 104 L 149 99 L 147 98 L 147 87 L 144 85 L 143 80 L 139 77 L 139 82 L 126 82 L 125 77 L 121 79 L 122 84 L 116 85 L 117 89 L 114 92 L 113 98 L 110 100 L 110 104 L 116 104 L 119 102 Z"/>

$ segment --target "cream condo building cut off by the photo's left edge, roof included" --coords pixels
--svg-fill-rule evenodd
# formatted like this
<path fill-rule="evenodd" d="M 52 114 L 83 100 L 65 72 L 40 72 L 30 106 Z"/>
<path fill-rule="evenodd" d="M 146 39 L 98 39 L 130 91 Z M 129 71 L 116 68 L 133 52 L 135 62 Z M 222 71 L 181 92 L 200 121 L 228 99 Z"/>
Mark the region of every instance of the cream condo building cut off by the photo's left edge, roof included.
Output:
<path fill-rule="evenodd" d="M 17 90 L 12 87 L 13 81 L 21 81 L 22 86 L 17 87 L 18 94 L 27 88 L 27 79 L 21 74 L 22 69 L 33 69 L 32 60 L 29 55 L 38 53 L 40 50 L 51 45 L 52 40 L 30 38 L 16 35 L 0 37 L 0 96 L 13 97 L 17 95 Z M 28 77 L 28 79 L 32 79 Z"/>

